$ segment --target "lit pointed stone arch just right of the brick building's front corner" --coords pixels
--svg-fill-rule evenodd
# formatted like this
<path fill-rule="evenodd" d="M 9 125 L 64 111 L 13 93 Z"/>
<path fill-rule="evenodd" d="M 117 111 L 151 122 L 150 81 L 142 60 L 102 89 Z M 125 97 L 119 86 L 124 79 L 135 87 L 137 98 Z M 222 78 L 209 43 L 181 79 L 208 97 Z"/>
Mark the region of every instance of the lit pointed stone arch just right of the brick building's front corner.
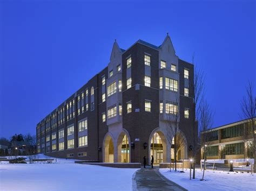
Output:
<path fill-rule="evenodd" d="M 149 151 L 149 164 L 150 164 L 150 159 L 151 159 L 151 154 L 153 153 L 153 155 L 157 154 L 154 149 L 151 149 L 151 142 L 152 142 L 152 138 L 154 136 L 155 133 L 158 133 L 160 139 L 161 139 L 161 144 L 163 146 L 163 157 L 159 162 L 170 162 L 170 155 L 171 155 L 171 146 L 170 144 L 167 142 L 166 140 L 166 136 L 163 130 L 161 130 L 160 128 L 156 128 L 154 129 L 149 137 L 149 144 L 148 144 L 148 151 Z M 160 153 L 159 153 L 160 154 Z M 154 157 L 155 158 L 155 157 Z M 158 163 L 158 159 L 154 159 L 156 161 L 156 163 Z"/>

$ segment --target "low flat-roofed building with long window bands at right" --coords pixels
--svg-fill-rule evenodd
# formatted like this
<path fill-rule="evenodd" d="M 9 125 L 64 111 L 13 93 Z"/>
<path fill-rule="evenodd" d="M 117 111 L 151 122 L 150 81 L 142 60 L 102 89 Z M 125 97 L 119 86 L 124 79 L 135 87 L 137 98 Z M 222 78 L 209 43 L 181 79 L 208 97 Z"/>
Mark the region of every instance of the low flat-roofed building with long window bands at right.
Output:
<path fill-rule="evenodd" d="M 255 125 L 256 122 L 254 121 Z M 253 128 L 249 119 L 219 126 L 207 133 L 207 159 L 250 159 L 253 158 Z M 254 132 L 256 133 L 256 132 Z M 201 148 L 201 158 L 204 148 Z"/>

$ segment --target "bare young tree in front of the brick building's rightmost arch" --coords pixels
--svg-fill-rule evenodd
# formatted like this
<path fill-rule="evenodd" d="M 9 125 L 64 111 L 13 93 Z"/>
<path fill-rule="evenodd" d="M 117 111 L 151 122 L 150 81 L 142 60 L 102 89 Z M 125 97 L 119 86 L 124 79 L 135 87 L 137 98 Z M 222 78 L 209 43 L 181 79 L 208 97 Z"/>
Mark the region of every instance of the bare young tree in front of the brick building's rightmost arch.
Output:
<path fill-rule="evenodd" d="M 173 113 L 172 113 L 173 112 Z M 174 167 L 177 171 L 177 154 L 185 146 L 186 139 L 181 135 L 179 129 L 179 99 L 176 98 L 176 103 L 173 105 L 171 113 L 167 117 L 167 127 L 166 127 L 166 139 L 169 145 L 173 145 L 174 150 Z M 174 139 L 174 142 L 172 141 Z M 171 171 L 172 159 L 170 159 L 170 171 Z"/>

